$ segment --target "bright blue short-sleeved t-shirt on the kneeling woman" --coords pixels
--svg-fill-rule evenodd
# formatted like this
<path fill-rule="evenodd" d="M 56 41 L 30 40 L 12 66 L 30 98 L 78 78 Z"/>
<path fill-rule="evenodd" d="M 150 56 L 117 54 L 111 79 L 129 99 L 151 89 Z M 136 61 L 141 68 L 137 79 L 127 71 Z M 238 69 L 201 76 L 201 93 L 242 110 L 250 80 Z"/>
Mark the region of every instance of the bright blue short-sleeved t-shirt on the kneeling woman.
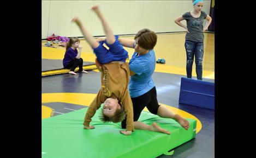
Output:
<path fill-rule="evenodd" d="M 134 52 L 132 59 L 130 59 L 129 67 L 131 71 L 136 73 L 130 77 L 128 86 L 130 97 L 139 97 L 154 87 L 152 74 L 156 67 L 156 56 L 153 49 L 140 56 Z"/>

